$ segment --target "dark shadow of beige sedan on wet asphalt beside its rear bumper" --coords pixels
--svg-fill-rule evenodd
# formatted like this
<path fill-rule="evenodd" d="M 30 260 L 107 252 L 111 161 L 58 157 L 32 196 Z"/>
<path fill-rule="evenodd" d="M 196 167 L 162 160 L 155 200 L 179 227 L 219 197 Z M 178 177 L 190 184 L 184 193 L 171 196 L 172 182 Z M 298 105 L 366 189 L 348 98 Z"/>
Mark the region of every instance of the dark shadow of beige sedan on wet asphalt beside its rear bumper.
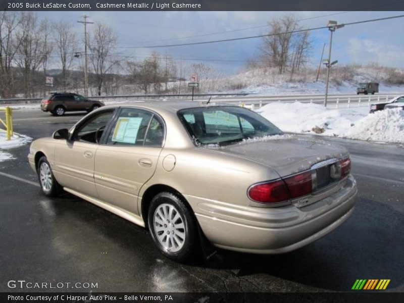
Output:
<path fill-rule="evenodd" d="M 344 224 L 306 247 L 272 256 L 221 250 L 206 266 L 232 269 L 250 282 L 266 274 L 317 291 L 349 291 L 356 279 L 391 279 L 388 289 L 402 291 L 403 247 L 404 216 L 386 204 L 361 199 Z M 260 279 L 257 282 L 261 283 Z M 276 279 L 274 282 L 274 287 L 261 286 L 266 291 L 279 291 Z M 307 291 L 295 287 L 293 291 Z"/>

